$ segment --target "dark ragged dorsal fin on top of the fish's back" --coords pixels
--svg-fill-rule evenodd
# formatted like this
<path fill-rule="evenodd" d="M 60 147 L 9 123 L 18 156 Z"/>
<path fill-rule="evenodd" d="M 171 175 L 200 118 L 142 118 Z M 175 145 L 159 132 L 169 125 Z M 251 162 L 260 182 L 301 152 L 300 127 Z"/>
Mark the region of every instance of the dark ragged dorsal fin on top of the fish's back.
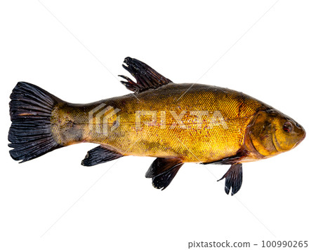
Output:
<path fill-rule="evenodd" d="M 168 78 L 165 78 L 157 71 L 149 67 L 147 64 L 131 57 L 126 57 L 124 60 L 127 67 L 123 64 L 124 69 L 129 71 L 133 77 L 136 78 L 137 83 L 132 81 L 127 76 L 121 76 L 127 81 L 121 81 L 126 88 L 133 92 L 143 92 L 150 88 L 158 88 L 161 85 L 172 83 Z"/>

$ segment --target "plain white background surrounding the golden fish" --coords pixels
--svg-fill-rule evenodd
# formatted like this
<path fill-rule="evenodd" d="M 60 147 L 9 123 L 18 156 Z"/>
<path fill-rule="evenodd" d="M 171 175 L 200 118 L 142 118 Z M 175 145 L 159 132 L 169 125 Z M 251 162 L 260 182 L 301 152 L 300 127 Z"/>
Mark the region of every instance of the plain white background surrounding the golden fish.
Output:
<path fill-rule="evenodd" d="M 187 249 L 225 239 L 308 240 L 316 249 L 316 4 L 273 4 L 1 1 L 0 249 Z M 18 81 L 74 103 L 126 95 L 117 80 L 128 74 L 126 56 L 175 83 L 198 80 L 261 99 L 307 137 L 293 151 L 244 164 L 233 197 L 216 182 L 228 166 L 185 164 L 161 191 L 145 179 L 153 158 L 81 166 L 93 144 L 11 159 L 8 102 Z"/>

